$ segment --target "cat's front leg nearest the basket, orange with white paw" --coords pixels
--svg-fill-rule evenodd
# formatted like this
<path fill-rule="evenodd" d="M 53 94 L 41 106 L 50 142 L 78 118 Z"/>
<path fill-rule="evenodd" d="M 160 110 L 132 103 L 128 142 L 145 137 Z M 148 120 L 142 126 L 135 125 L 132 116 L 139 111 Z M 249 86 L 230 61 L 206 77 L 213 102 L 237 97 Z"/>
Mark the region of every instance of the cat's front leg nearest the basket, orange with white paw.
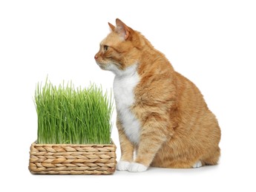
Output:
<path fill-rule="evenodd" d="M 116 119 L 116 127 L 118 129 L 119 142 L 121 147 L 121 158 L 119 162 L 117 162 L 116 170 L 128 171 L 131 162 L 134 161 L 134 145 L 126 137 L 118 117 Z"/>

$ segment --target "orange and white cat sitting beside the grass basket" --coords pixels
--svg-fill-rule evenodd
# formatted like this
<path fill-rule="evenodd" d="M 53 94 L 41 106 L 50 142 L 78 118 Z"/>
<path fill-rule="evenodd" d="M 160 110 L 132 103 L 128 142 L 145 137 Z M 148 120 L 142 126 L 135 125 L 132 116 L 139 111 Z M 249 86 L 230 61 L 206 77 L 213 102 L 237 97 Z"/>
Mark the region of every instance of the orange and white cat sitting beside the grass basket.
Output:
<path fill-rule="evenodd" d="M 220 126 L 200 90 L 163 53 L 116 18 L 94 59 L 114 72 L 118 171 L 216 165 Z M 134 151 L 136 153 L 134 154 Z"/>

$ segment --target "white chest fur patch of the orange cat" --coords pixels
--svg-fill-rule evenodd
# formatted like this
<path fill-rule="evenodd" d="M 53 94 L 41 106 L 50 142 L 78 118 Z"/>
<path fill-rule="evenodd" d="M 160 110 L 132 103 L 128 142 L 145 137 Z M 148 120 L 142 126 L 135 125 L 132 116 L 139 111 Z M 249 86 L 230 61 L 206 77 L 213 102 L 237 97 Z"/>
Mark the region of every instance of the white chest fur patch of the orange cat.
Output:
<path fill-rule="evenodd" d="M 140 81 L 137 66 L 133 65 L 125 69 L 122 74 L 114 78 L 114 97 L 116 100 L 116 111 L 122 123 L 125 134 L 131 142 L 138 144 L 140 140 L 140 122 L 131 112 L 134 104 L 134 88 Z"/>

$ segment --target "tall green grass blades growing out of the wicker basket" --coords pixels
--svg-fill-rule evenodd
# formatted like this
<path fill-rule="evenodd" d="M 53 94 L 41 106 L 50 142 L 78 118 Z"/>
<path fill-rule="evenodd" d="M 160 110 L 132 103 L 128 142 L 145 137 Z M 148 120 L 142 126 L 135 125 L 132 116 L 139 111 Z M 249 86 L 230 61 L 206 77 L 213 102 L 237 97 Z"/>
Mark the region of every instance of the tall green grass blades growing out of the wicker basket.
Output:
<path fill-rule="evenodd" d="M 37 143 L 109 144 L 113 100 L 102 88 L 87 89 L 73 83 L 53 86 L 37 83 L 35 105 L 38 117 Z"/>

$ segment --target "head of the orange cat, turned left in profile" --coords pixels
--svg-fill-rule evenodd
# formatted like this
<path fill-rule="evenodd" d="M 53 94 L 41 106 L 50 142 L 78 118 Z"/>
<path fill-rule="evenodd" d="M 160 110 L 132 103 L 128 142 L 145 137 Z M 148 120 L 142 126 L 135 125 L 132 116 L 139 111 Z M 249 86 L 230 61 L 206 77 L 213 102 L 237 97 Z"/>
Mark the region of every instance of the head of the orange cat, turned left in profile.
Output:
<path fill-rule="evenodd" d="M 138 63 L 144 41 L 140 32 L 126 26 L 118 18 L 116 18 L 116 27 L 110 23 L 108 25 L 111 33 L 99 44 L 99 52 L 94 58 L 101 69 L 118 74 Z"/>

